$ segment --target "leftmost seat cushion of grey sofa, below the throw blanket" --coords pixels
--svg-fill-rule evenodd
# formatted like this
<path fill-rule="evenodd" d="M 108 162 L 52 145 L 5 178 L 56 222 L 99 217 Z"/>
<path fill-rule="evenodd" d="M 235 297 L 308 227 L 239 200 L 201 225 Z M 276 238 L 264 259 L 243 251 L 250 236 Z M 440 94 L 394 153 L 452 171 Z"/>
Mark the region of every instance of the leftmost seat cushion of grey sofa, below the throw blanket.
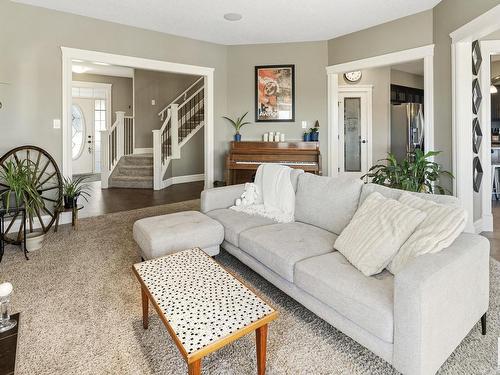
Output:
<path fill-rule="evenodd" d="M 217 220 L 224 226 L 224 239 L 230 244 L 239 247 L 240 233 L 244 230 L 260 227 L 262 225 L 276 224 L 275 221 L 256 215 L 222 208 L 206 213 L 207 216 Z"/>

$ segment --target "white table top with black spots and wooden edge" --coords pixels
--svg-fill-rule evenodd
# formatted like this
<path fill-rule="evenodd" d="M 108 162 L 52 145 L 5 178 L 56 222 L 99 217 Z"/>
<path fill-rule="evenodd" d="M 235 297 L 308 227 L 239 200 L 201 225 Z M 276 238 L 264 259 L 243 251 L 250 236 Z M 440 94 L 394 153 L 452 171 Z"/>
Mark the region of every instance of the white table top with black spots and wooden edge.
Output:
<path fill-rule="evenodd" d="M 134 267 L 187 356 L 275 314 L 200 249 Z"/>

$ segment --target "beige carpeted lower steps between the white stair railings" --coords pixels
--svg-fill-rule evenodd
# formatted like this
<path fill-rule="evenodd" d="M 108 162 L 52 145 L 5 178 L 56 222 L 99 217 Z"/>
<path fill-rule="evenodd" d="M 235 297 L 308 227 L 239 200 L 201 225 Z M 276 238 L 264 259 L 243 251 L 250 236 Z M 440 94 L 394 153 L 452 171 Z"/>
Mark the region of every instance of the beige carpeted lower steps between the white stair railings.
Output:
<path fill-rule="evenodd" d="M 109 186 L 129 189 L 152 189 L 153 154 L 123 156 L 111 173 Z"/>

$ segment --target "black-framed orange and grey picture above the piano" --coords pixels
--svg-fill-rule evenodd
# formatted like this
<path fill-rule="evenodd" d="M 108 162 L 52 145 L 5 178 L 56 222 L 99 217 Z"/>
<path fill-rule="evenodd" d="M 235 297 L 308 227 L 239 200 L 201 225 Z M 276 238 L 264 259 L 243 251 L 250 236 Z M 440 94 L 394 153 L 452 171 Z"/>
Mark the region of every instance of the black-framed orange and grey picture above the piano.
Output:
<path fill-rule="evenodd" d="M 295 65 L 255 67 L 255 122 L 295 121 Z"/>

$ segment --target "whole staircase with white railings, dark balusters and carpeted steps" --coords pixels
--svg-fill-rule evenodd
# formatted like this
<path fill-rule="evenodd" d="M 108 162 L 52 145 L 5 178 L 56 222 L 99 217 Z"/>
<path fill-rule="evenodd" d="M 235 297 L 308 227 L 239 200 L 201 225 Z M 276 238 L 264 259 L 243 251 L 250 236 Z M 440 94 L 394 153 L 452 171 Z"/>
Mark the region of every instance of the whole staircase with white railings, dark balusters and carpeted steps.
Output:
<path fill-rule="evenodd" d="M 161 127 L 153 130 L 153 154 L 133 154 L 135 122 L 116 112 L 115 123 L 101 131 L 101 187 L 163 189 L 172 160 L 205 124 L 205 82 L 200 77 L 158 113 Z M 169 181 L 170 180 L 170 181 Z"/>

